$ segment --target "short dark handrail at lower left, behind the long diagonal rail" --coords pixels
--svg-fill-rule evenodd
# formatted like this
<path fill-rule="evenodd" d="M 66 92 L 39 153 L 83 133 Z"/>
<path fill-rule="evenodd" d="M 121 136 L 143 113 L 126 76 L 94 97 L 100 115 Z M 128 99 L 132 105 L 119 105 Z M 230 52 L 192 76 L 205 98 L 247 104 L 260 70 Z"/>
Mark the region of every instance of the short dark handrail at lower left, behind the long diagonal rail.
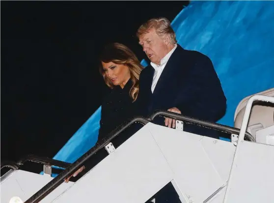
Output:
<path fill-rule="evenodd" d="M 35 155 L 27 155 L 27 157 L 20 159 L 17 161 L 18 165 L 24 165 L 26 161 L 31 161 L 31 162 L 36 162 L 36 163 L 41 163 L 41 164 L 46 164 L 46 165 L 51 165 L 51 166 L 57 166 L 60 168 L 67 168 L 71 165 L 71 163 L 64 162 L 64 161 L 59 161 L 53 158 L 47 158 L 47 157 L 38 157 Z"/>

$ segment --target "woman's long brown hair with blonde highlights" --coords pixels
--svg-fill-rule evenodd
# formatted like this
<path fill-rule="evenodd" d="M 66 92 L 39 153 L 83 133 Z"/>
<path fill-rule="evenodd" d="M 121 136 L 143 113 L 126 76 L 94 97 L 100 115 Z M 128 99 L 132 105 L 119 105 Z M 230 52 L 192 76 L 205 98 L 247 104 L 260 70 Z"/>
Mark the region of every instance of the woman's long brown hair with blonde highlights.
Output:
<path fill-rule="evenodd" d="M 130 50 L 130 48 L 126 45 L 112 43 L 105 46 L 100 57 L 100 62 L 112 62 L 114 64 L 125 65 L 129 68 L 130 79 L 132 80 L 132 87 L 129 94 L 133 99 L 133 102 L 136 101 L 139 93 L 139 75 L 143 67 L 141 66 L 139 60 L 137 59 L 137 56 L 133 53 L 133 51 Z M 103 69 L 102 63 L 100 63 L 99 70 L 107 86 L 112 89 L 113 84 L 111 83 L 110 79 L 106 77 L 106 73 Z"/>

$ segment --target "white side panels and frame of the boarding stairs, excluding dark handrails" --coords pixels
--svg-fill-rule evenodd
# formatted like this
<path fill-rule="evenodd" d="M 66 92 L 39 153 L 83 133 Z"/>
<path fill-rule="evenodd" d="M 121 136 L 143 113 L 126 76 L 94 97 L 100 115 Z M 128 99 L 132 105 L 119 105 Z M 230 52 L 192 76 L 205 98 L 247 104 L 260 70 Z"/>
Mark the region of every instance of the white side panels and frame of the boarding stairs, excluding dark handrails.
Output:
<path fill-rule="evenodd" d="M 274 97 L 250 97 L 238 133 L 227 126 L 164 114 L 183 122 L 226 130 L 238 140 L 227 142 L 148 122 L 116 147 L 113 140 L 120 129 L 55 179 L 21 170 L 9 171 L 1 177 L 1 202 L 19 197 L 22 203 L 144 203 L 171 182 L 182 203 L 273 203 L 273 128 L 259 133 L 260 143 L 246 133 L 252 103 L 257 100 L 274 103 Z M 244 140 L 245 136 L 249 141 Z M 270 144 L 264 143 L 267 140 Z M 110 142 L 116 149 L 106 158 L 75 183 L 63 183 L 84 160 L 92 159 L 100 151 L 106 152 L 104 146 Z"/>

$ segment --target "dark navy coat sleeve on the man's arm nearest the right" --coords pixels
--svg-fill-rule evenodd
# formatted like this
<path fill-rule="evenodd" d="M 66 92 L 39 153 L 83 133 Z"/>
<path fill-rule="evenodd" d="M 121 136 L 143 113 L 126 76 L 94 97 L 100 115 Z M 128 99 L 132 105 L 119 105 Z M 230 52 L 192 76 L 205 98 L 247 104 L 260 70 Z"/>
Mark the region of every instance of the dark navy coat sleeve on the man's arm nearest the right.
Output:
<path fill-rule="evenodd" d="M 183 115 L 216 122 L 225 113 L 226 98 L 211 60 L 200 55 L 187 79 L 189 85 L 181 87 L 177 108 Z"/>

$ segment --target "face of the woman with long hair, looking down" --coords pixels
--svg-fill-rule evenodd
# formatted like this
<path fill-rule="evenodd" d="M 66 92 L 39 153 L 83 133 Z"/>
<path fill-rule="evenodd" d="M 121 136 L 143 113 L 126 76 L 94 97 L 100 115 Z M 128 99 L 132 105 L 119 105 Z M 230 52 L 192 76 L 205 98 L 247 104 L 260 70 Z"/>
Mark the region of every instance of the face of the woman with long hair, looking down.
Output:
<path fill-rule="evenodd" d="M 103 70 L 113 85 L 124 88 L 130 79 L 129 68 L 125 65 L 114 64 L 113 62 L 102 62 Z"/>

